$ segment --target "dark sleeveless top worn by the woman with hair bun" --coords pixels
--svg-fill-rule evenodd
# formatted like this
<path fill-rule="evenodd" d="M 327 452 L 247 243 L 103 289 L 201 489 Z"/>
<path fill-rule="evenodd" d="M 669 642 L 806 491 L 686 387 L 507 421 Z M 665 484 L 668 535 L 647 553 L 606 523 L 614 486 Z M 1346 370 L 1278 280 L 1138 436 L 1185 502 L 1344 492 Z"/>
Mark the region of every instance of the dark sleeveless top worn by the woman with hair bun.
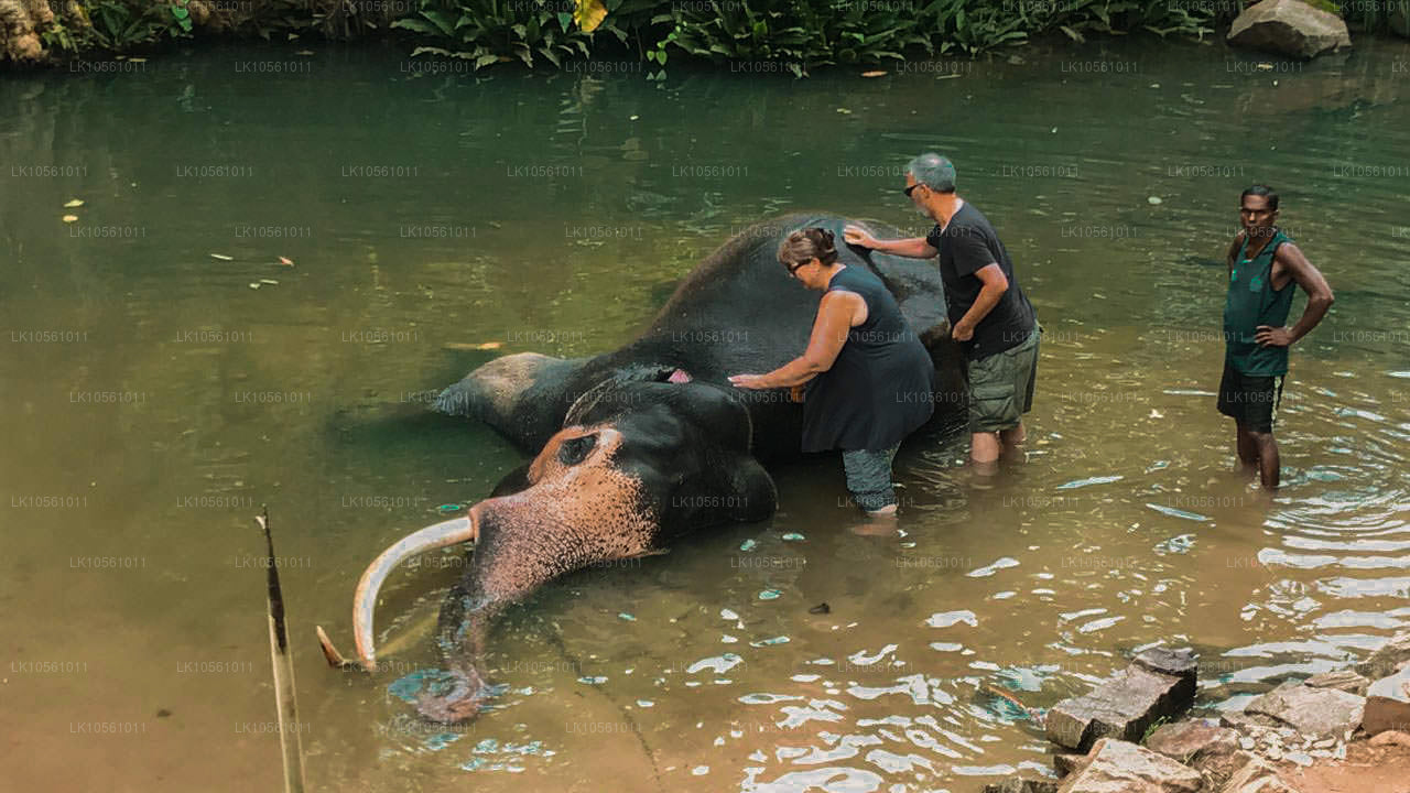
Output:
<path fill-rule="evenodd" d="M 890 449 L 935 412 L 935 364 L 874 274 L 843 267 L 828 284 L 835 289 L 860 295 L 867 320 L 847 333 L 832 368 L 808 382 L 802 450 Z"/>

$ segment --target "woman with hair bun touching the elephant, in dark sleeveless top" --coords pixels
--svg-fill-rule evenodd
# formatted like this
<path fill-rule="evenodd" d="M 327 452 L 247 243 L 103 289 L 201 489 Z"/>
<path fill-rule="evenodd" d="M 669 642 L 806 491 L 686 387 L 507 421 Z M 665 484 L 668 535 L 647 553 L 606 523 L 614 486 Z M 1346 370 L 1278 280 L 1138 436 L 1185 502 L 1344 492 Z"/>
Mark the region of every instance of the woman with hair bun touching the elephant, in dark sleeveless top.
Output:
<path fill-rule="evenodd" d="M 856 504 L 869 515 L 894 515 L 891 460 L 935 411 L 935 364 L 881 279 L 842 264 L 833 240 L 812 227 L 778 246 L 788 275 L 823 293 L 808 349 L 768 374 L 729 381 L 737 388 L 807 384 L 802 450 L 840 449 Z"/>

